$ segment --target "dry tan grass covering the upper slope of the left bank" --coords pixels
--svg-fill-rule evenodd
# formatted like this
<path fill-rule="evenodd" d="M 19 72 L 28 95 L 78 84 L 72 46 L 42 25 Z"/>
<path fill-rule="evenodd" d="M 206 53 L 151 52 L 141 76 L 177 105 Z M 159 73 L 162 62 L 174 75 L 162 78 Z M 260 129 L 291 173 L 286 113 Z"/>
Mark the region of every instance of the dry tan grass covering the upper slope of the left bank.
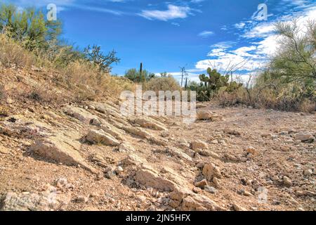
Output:
<path fill-rule="evenodd" d="M 38 84 L 22 91 L 22 97 L 45 103 L 80 102 L 105 96 L 116 98 L 121 91 L 134 89 L 134 84 L 129 80 L 102 73 L 86 60 L 60 65 L 47 58 L 43 53 L 35 56 L 5 34 L 0 34 L 0 65 L 4 68 L 16 66 L 27 71 L 32 65 L 44 66 L 44 72 L 31 72 Z"/>

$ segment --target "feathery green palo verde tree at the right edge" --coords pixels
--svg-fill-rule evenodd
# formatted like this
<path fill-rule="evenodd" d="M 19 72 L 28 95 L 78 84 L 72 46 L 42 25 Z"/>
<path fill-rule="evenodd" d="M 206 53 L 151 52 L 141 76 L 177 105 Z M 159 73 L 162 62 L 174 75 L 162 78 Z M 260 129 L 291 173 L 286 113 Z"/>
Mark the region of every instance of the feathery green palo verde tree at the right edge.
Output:
<path fill-rule="evenodd" d="M 295 84 L 302 94 L 315 93 L 316 84 L 316 23 L 308 21 L 298 25 L 277 23 L 279 49 L 270 62 L 265 79 L 275 79 L 283 84 Z"/>

